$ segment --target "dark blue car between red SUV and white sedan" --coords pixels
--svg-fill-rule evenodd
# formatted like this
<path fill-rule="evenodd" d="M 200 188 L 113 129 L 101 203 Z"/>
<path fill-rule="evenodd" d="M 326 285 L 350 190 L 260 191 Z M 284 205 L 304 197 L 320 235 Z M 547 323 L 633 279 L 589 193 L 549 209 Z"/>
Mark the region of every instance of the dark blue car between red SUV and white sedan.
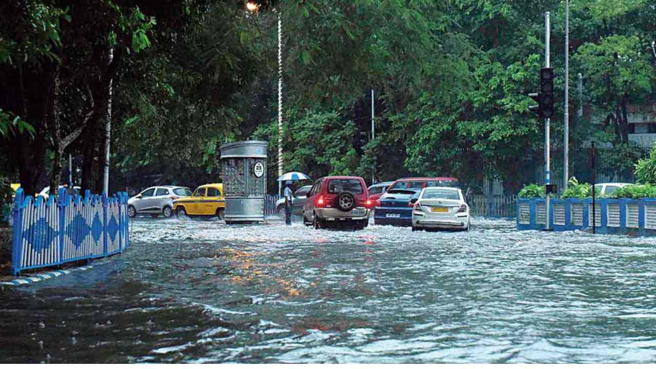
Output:
<path fill-rule="evenodd" d="M 421 188 L 387 190 L 376 202 L 373 223 L 375 225 L 411 227 L 414 206 L 411 200 L 417 198 L 420 191 Z"/>

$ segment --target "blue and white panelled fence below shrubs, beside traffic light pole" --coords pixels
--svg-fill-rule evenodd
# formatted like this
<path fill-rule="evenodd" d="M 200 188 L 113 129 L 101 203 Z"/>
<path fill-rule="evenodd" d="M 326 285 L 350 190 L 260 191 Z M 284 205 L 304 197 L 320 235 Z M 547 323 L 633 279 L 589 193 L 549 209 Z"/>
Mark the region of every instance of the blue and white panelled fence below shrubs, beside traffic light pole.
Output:
<path fill-rule="evenodd" d="M 549 227 L 553 230 L 592 228 L 592 198 L 551 200 Z M 656 235 L 656 198 L 609 199 L 595 201 L 594 225 L 599 233 Z M 517 199 L 517 229 L 541 230 L 546 227 L 543 198 Z"/>

